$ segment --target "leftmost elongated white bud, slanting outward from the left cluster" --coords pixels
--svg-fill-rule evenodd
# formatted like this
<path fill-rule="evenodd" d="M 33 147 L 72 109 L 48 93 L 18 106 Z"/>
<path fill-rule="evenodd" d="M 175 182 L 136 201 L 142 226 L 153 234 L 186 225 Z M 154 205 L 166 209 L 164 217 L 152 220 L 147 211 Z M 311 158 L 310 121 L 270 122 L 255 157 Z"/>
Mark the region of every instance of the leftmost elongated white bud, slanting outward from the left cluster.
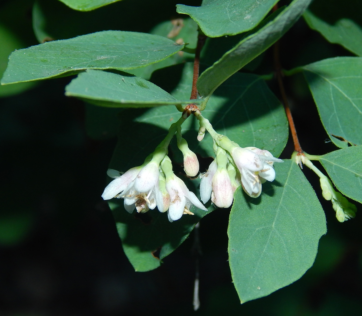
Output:
<path fill-rule="evenodd" d="M 118 193 L 124 191 L 130 185 L 130 183 L 136 178 L 140 170 L 141 170 L 140 167 L 134 167 L 126 171 L 123 175 L 117 176 L 118 171 L 109 169 L 107 171 L 107 174 L 111 176 L 111 178 L 115 179 L 112 182 L 110 182 L 104 189 L 104 192 L 102 194 L 103 200 L 110 200 L 111 198 L 115 197 Z"/>

